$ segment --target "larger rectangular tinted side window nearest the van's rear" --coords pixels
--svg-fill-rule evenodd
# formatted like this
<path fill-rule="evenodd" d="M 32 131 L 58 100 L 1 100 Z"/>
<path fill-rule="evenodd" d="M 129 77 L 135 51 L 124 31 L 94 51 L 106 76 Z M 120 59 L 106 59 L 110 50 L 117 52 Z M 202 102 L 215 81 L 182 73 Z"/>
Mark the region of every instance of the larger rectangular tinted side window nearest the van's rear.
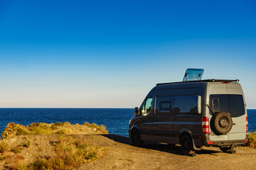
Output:
<path fill-rule="evenodd" d="M 176 96 L 175 113 L 198 113 L 198 96 Z"/>

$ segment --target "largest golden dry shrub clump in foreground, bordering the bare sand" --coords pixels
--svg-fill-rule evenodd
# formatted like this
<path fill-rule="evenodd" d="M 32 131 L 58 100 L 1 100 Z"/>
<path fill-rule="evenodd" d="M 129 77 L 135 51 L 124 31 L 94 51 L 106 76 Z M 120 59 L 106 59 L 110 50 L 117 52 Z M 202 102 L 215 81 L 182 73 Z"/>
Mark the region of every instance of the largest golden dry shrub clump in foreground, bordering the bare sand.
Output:
<path fill-rule="evenodd" d="M 58 142 L 51 142 L 57 156 L 48 159 L 39 158 L 27 166 L 28 169 L 74 169 L 85 162 L 97 159 L 101 155 L 100 147 L 90 147 L 86 140 L 74 140 L 61 136 Z"/>

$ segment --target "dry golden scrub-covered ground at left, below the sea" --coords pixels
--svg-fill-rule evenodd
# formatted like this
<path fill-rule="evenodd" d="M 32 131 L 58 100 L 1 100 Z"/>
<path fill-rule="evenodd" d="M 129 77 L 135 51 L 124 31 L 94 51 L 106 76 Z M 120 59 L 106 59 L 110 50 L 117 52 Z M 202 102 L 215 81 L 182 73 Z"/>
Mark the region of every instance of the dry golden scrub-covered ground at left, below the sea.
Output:
<path fill-rule="evenodd" d="M 107 133 L 95 123 L 9 123 L 0 140 L 0 169 L 74 169 L 101 157 L 104 150 L 82 135 Z"/>

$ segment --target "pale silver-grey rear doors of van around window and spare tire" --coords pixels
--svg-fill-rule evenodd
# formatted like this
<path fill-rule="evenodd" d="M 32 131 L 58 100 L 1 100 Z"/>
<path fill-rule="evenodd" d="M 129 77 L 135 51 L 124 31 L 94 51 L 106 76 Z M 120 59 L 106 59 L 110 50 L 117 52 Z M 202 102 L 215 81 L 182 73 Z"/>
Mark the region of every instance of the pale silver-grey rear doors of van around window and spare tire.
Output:
<path fill-rule="evenodd" d="M 210 140 L 244 140 L 246 137 L 246 109 L 240 84 L 223 84 L 222 93 L 210 94 L 209 104 L 213 112 L 230 113 L 233 127 L 227 134 L 215 135 Z M 220 91 L 220 89 L 218 89 Z"/>

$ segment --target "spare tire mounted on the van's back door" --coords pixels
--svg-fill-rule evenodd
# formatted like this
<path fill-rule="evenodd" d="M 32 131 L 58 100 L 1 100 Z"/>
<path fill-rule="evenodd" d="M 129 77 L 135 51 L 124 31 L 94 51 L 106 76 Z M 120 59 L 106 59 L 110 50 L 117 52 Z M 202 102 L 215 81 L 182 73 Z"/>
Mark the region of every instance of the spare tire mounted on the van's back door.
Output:
<path fill-rule="evenodd" d="M 223 135 L 228 133 L 233 126 L 233 121 L 229 113 L 219 112 L 213 115 L 210 120 L 210 128 L 215 135 Z"/>

